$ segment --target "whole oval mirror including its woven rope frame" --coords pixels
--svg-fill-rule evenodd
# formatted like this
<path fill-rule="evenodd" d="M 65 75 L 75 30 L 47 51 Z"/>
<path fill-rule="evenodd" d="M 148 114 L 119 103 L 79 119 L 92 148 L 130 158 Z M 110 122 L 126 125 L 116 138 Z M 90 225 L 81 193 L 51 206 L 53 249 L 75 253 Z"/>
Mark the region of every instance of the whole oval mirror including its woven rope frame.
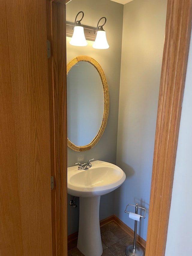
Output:
<path fill-rule="evenodd" d="M 86 151 L 100 140 L 109 114 L 109 88 L 103 69 L 89 56 L 67 64 L 67 146 Z"/>

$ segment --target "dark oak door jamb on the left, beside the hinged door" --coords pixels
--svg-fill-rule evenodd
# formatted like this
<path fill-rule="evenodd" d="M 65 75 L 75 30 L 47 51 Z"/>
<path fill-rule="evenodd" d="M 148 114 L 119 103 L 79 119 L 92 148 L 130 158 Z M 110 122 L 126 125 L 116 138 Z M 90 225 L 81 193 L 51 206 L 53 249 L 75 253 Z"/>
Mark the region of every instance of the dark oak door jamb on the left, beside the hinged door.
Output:
<path fill-rule="evenodd" d="M 67 256 L 67 74 L 66 4 L 46 0 L 47 39 L 51 44 L 48 59 L 53 256 Z"/>

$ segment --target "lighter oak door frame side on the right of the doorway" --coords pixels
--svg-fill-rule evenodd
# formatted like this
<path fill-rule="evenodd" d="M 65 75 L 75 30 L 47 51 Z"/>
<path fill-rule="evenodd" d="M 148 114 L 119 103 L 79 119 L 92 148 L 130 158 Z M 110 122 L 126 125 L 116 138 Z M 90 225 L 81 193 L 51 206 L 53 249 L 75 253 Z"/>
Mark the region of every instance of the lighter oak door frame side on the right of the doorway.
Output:
<path fill-rule="evenodd" d="M 146 256 L 163 256 L 191 34 L 192 0 L 168 0 Z"/>

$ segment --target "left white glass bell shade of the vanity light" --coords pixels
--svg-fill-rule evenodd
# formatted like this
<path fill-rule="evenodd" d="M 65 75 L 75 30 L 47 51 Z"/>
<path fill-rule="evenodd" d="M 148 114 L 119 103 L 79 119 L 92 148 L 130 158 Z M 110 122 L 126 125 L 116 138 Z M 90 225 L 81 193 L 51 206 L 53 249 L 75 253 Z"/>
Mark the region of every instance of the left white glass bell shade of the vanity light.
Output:
<path fill-rule="evenodd" d="M 73 31 L 73 36 L 69 42 L 71 45 L 74 46 L 86 46 L 87 41 L 84 35 L 84 29 L 82 26 L 75 26 Z"/>

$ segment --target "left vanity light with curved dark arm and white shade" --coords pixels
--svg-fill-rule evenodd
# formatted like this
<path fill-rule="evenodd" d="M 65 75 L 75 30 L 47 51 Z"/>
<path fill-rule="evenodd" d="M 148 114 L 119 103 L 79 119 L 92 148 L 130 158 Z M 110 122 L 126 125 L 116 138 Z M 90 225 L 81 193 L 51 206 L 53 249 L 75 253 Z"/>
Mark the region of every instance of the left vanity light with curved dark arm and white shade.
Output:
<path fill-rule="evenodd" d="M 84 35 L 84 29 L 83 26 L 81 25 L 81 21 L 82 18 L 80 20 L 77 20 L 77 16 L 82 13 L 82 18 L 84 17 L 84 12 L 80 11 L 78 12 L 78 14 L 75 17 L 75 22 L 74 22 L 74 26 L 73 26 L 73 36 L 70 40 L 70 44 L 74 45 L 74 46 L 86 46 L 87 45 L 87 41 L 85 39 L 85 35 Z"/>

